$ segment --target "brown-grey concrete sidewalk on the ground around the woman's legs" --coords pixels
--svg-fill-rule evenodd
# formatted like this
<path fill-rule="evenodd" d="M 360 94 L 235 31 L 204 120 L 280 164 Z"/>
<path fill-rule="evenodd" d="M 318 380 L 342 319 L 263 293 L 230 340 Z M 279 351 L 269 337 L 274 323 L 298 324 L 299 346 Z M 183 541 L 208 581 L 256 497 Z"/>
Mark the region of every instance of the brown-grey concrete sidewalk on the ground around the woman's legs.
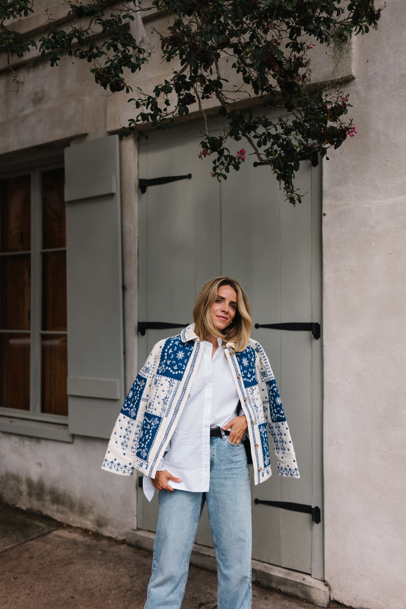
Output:
<path fill-rule="evenodd" d="M 0 547 L 7 548 L 0 552 L 2 609 L 144 607 L 150 552 L 1 504 L 0 537 Z M 216 592 L 216 574 L 191 566 L 182 609 L 214 609 Z M 253 586 L 253 609 L 309 606 Z M 330 607 L 345 609 L 335 603 Z"/>

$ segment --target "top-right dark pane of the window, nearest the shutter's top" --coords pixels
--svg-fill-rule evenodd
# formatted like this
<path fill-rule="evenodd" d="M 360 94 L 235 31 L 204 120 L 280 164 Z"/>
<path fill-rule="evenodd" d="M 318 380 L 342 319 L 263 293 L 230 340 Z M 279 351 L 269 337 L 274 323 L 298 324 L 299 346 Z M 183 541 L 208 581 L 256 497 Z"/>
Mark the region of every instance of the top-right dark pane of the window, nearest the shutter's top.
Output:
<path fill-rule="evenodd" d="M 65 171 L 54 169 L 41 174 L 42 247 L 66 247 Z"/>

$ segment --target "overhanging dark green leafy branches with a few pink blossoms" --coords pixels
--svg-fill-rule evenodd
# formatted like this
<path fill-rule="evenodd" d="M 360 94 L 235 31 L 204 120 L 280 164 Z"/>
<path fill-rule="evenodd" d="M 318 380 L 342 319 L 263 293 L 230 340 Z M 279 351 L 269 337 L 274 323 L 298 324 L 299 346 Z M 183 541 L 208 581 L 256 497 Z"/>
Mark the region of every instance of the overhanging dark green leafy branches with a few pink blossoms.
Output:
<path fill-rule="evenodd" d="M 32 0 L 4 0 L 0 2 L 0 49 L 9 58 L 23 58 L 37 49 L 51 67 L 61 63 L 63 55 L 86 60 L 96 83 L 105 91 L 136 91 L 135 97 L 128 99 L 135 104 L 135 114 L 119 130 L 120 139 L 132 134 L 138 140 L 147 138 L 145 130 L 139 130 L 144 125 L 172 128 L 197 103 L 205 123 L 200 143 L 205 153 L 200 153 L 200 158 L 211 157 L 211 175 L 225 180 L 231 169 L 239 170 L 246 153 L 239 151 L 236 157 L 234 148 L 230 153 L 227 140 L 240 142 L 245 138 L 256 162 L 269 166 L 286 200 L 295 205 L 301 202 L 293 184 L 301 158 L 312 152 L 326 157 L 330 149 L 337 150 L 355 135 L 351 122 L 343 119 L 349 106 L 347 94 L 341 90 L 327 97 L 309 94 L 310 52 L 318 44 L 323 44 L 327 53 L 336 43 L 342 49 L 354 35 L 376 30 L 383 10 L 376 2 L 152 0 L 154 10 L 172 15 L 163 31 L 155 27 L 150 31 L 159 37 L 161 60 L 173 65 L 172 74 L 166 74 L 153 91 L 142 91 L 138 86 L 133 91 L 125 80 L 128 77 L 133 82 L 134 74 L 143 70 L 156 52 L 141 48 L 141 39 L 139 44 L 133 37 L 130 22 L 140 11 L 149 10 L 134 0 L 123 0 L 114 7 L 98 0 L 66 0 L 65 16 L 71 23 L 68 31 L 58 29 L 57 22 L 47 17 L 48 31 L 37 42 L 7 29 L 7 23 L 33 12 Z M 102 37 L 95 38 L 95 27 Z M 233 57 L 227 63 L 227 79 L 219 67 L 224 54 Z M 22 82 L 10 62 L 8 65 L 17 93 Z M 226 87 L 225 82 L 229 83 Z M 236 108 L 236 96 L 245 99 L 251 91 L 263 104 L 259 114 L 250 107 Z M 227 128 L 209 133 L 206 103 L 208 108 L 217 108 Z M 281 113 L 282 107 L 286 113 Z M 270 162 L 271 157 L 275 158 Z"/>

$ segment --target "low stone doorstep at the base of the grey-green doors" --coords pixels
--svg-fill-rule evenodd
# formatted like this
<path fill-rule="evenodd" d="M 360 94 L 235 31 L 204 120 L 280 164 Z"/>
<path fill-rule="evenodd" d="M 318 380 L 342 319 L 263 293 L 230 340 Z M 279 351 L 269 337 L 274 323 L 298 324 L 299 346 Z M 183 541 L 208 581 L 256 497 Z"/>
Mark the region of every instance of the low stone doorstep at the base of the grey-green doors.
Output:
<path fill-rule="evenodd" d="M 131 531 L 127 537 L 128 545 L 148 552 L 153 551 L 154 541 L 155 533 L 141 529 Z M 191 555 L 191 565 L 217 572 L 214 549 L 195 543 Z M 320 605 L 320 607 L 327 607 L 329 604 L 329 587 L 321 580 L 306 573 L 269 565 L 259 560 L 252 560 L 251 566 L 253 582 L 262 586 L 262 588 L 293 594 L 300 599 Z"/>

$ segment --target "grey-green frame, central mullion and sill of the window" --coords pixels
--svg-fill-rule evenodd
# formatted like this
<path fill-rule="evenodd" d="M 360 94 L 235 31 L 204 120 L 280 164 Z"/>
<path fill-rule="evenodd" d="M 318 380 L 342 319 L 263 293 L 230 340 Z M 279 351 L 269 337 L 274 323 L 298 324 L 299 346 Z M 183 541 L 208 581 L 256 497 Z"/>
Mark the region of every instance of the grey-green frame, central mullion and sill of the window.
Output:
<path fill-rule="evenodd" d="M 55 158 L 55 157 L 54 157 Z M 19 166 L 12 171 L 0 171 L 0 180 L 30 175 L 31 190 L 31 273 L 30 273 L 30 409 L 18 410 L 0 406 L 0 431 L 32 435 L 48 439 L 73 442 L 68 432 L 68 416 L 41 412 L 41 300 L 42 300 L 42 197 L 41 172 L 62 169 L 63 160 L 39 161 Z M 57 248 L 58 250 L 66 248 Z M 48 250 L 49 251 L 49 250 Z M 1 253 L 0 253 L 1 256 Z M 58 334 L 50 332 L 49 334 Z M 63 334 L 68 334 L 67 332 Z M 32 424 L 27 424 L 32 421 Z M 34 422 L 44 423 L 43 426 Z"/>

